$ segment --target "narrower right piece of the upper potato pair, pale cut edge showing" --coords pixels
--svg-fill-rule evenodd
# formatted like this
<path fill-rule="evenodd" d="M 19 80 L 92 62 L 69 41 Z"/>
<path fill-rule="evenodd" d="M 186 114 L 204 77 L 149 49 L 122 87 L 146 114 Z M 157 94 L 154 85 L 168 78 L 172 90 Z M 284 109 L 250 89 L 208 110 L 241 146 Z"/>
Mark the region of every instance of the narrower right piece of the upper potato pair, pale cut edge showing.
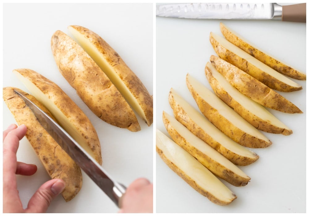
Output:
<path fill-rule="evenodd" d="M 153 122 L 153 99 L 142 81 L 119 54 L 95 32 L 81 26 L 69 26 L 69 30 L 133 109 L 150 126 Z"/>

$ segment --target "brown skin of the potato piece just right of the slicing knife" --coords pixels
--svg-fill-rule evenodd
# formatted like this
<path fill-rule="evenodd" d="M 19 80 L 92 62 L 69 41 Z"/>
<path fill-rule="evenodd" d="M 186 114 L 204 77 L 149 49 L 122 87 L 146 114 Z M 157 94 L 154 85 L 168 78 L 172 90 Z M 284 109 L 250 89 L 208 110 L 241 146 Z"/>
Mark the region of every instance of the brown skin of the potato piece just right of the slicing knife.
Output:
<path fill-rule="evenodd" d="M 20 73 L 23 77 L 27 77 L 70 119 L 92 150 L 95 160 L 102 164 L 101 145 L 98 135 L 89 118 L 76 103 L 56 83 L 41 74 L 31 69 L 15 69 L 14 71 Z M 57 119 L 57 117 L 55 118 Z"/>

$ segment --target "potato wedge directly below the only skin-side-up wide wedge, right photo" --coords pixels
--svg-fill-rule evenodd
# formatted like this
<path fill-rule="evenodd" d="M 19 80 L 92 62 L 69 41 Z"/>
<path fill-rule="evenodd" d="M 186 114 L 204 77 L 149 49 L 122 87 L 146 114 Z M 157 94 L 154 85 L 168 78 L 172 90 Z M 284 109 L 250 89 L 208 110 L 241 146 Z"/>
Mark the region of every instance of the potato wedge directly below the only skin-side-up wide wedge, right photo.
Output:
<path fill-rule="evenodd" d="M 255 128 L 275 134 L 293 133 L 263 106 L 235 89 L 210 62 L 206 64 L 205 74 L 214 93 Z"/>

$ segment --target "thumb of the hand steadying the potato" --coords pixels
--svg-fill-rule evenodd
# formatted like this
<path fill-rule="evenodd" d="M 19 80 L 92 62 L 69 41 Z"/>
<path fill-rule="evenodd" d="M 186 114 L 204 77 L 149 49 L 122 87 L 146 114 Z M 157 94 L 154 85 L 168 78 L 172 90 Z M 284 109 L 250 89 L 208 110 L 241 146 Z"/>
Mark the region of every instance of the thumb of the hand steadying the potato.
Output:
<path fill-rule="evenodd" d="M 45 182 L 29 200 L 26 212 L 45 213 L 50 202 L 61 193 L 65 187 L 65 182 L 61 179 L 52 179 Z"/>

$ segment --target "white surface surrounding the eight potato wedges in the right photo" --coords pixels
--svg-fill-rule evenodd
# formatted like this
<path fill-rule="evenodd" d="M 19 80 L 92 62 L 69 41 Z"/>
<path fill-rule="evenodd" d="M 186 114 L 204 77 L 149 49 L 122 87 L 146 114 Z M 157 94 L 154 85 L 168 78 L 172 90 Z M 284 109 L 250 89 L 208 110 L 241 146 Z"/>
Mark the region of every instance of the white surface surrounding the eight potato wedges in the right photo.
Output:
<path fill-rule="evenodd" d="M 170 88 L 198 109 L 185 82 L 187 73 L 211 89 L 204 68 L 216 55 L 210 31 L 222 35 L 219 23 L 238 32 L 252 45 L 290 66 L 306 71 L 306 24 L 281 21 L 192 20 L 156 18 L 156 127 L 168 135 L 162 111 L 169 114 Z M 228 206 L 218 206 L 203 197 L 156 155 L 156 209 L 158 213 L 295 213 L 306 212 L 306 81 L 294 80 L 303 90 L 281 93 L 303 114 L 269 111 L 293 130 L 289 136 L 264 133 L 273 144 L 252 149 L 260 158 L 240 167 L 251 181 L 235 187 L 224 180 L 238 197 Z M 212 89 L 211 89 L 212 91 Z"/>

